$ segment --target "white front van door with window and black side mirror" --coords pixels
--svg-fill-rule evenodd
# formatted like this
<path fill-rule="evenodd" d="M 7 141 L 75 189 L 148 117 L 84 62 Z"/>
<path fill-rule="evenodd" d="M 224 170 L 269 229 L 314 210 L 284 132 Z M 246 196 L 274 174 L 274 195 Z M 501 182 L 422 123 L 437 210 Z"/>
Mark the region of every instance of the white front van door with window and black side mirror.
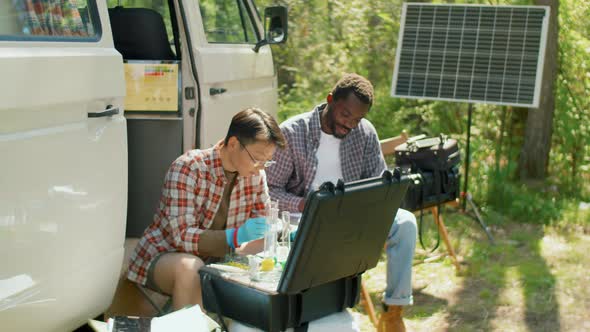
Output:
<path fill-rule="evenodd" d="M 180 2 L 186 21 L 192 22 L 190 43 L 200 88 L 198 147 L 209 148 L 223 139 L 232 116 L 246 107 L 276 116 L 277 81 L 267 44 L 286 39 L 286 9 L 284 36 L 268 40 L 268 29 L 251 0 Z M 276 26 L 278 21 L 269 22 Z"/>

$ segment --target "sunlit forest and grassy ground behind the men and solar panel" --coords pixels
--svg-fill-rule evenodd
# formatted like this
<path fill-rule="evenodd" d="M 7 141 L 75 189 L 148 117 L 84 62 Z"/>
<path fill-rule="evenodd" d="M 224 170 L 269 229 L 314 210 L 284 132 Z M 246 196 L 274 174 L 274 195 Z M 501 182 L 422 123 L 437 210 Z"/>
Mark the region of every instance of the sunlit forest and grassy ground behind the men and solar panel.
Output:
<path fill-rule="evenodd" d="M 368 118 L 380 138 L 404 130 L 444 133 L 465 152 L 466 103 L 390 96 L 403 1 L 254 1 L 261 16 L 269 5 L 289 10 L 288 40 L 272 46 L 280 121 L 325 101 L 343 73 L 356 72 L 375 87 Z M 121 2 L 158 9 L 170 27 L 167 0 L 108 0 L 109 7 Z M 406 324 L 429 332 L 590 331 L 590 288 L 583 287 L 590 284 L 590 0 L 432 2 L 547 5 L 551 16 L 539 108 L 473 104 L 469 191 L 495 244 L 473 218 L 445 207 L 460 268 L 445 257 L 444 245 L 433 253 L 417 248 Z M 428 249 L 437 238 L 432 221 L 425 214 Z M 375 304 L 385 286 L 385 261 L 383 254 L 363 274 Z M 374 331 L 364 306 L 353 311 L 363 332 Z"/>

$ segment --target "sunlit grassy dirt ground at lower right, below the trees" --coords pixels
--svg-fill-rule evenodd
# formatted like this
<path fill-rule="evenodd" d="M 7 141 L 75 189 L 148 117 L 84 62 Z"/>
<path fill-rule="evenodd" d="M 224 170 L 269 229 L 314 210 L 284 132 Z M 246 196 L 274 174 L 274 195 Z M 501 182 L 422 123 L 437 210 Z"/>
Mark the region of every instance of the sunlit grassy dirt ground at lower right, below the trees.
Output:
<path fill-rule="evenodd" d="M 588 230 L 502 221 L 491 226 L 492 245 L 467 216 L 451 213 L 445 224 L 461 269 L 449 257 L 414 266 L 409 331 L 590 331 Z M 431 255 L 445 252 L 441 243 Z M 428 255 L 419 248 L 416 257 Z M 385 256 L 364 278 L 379 311 L 384 268 Z M 363 306 L 354 310 L 374 331 Z"/>

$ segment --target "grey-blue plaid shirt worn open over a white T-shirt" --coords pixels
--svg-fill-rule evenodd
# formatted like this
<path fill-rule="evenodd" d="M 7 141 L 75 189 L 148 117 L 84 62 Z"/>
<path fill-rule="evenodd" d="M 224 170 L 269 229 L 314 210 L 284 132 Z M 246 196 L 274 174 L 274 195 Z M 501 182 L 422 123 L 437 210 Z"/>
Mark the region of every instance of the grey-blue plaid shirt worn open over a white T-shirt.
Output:
<path fill-rule="evenodd" d="M 299 203 L 309 193 L 315 177 L 320 146 L 320 113 L 326 104 L 297 115 L 281 124 L 287 139 L 285 149 L 277 149 L 275 165 L 266 170 L 270 196 L 279 200 L 281 210 L 298 211 Z M 362 119 L 356 128 L 342 139 L 340 161 L 345 182 L 381 175 L 387 168 L 379 137 L 369 120 Z"/>

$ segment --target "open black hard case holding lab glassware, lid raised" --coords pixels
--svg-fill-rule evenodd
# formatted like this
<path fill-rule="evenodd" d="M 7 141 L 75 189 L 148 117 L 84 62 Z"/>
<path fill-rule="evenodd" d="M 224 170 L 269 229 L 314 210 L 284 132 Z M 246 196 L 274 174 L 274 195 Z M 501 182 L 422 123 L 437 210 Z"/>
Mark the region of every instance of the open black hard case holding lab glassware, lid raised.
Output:
<path fill-rule="evenodd" d="M 398 170 L 311 193 L 275 291 L 216 268 L 200 270 L 207 311 L 265 331 L 282 331 L 353 307 L 361 274 L 377 265 L 409 179 Z"/>

